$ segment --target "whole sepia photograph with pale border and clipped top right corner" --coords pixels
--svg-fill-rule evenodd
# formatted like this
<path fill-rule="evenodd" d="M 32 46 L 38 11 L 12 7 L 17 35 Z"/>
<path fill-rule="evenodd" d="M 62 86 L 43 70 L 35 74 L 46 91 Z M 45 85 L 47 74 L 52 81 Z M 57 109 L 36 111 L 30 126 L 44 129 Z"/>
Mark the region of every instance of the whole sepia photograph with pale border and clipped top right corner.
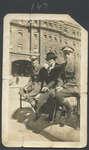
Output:
<path fill-rule="evenodd" d="M 2 143 L 84 147 L 87 31 L 68 15 L 4 18 Z"/>

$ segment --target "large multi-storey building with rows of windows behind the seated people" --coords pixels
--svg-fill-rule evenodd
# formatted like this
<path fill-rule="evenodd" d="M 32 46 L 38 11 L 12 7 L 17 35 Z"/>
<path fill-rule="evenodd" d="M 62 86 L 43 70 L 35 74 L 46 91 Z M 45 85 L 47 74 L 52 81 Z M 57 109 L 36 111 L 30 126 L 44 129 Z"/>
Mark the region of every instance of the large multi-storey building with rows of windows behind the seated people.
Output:
<path fill-rule="evenodd" d="M 15 70 L 14 64 L 19 68 L 19 62 L 23 61 L 26 64 L 31 55 L 39 57 L 39 63 L 43 65 L 46 53 L 49 51 L 55 52 L 58 56 L 57 61 L 61 63 L 63 60 L 61 49 L 64 46 L 74 48 L 74 55 L 80 60 L 81 30 L 78 25 L 57 20 L 12 20 L 10 23 L 10 74 L 13 74 L 13 68 Z"/>

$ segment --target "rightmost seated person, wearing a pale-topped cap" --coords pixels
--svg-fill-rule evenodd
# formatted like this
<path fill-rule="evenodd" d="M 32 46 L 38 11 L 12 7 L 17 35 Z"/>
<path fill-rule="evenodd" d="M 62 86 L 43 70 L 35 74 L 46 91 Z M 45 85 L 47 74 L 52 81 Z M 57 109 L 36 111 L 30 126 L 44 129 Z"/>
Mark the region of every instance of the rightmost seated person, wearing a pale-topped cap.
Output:
<path fill-rule="evenodd" d="M 64 47 L 62 49 L 65 55 L 66 67 L 65 67 L 65 83 L 61 91 L 56 91 L 56 102 L 64 103 L 69 115 L 71 114 L 71 106 L 65 102 L 66 97 L 76 97 L 77 106 L 79 109 L 80 92 L 79 92 L 79 67 L 74 57 L 74 50 L 70 47 Z M 76 66 L 75 66 L 76 65 Z"/>

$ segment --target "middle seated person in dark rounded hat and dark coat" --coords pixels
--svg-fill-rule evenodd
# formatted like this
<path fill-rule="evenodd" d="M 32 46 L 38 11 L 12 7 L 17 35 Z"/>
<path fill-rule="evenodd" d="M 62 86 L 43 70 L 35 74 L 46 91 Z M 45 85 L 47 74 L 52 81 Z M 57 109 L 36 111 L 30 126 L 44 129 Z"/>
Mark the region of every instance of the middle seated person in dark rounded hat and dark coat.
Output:
<path fill-rule="evenodd" d="M 40 110 L 44 103 L 47 100 L 52 100 L 55 97 L 55 89 L 61 88 L 63 85 L 63 74 L 64 74 L 64 64 L 56 63 L 57 56 L 53 52 L 47 53 L 46 60 L 48 63 L 48 67 L 43 67 L 39 72 L 40 81 L 44 81 L 43 88 L 41 92 L 43 92 L 39 100 L 37 101 L 37 109 L 36 109 L 36 119 L 40 117 Z M 50 115 L 49 119 L 52 120 L 53 117 L 53 101 L 50 101 Z"/>

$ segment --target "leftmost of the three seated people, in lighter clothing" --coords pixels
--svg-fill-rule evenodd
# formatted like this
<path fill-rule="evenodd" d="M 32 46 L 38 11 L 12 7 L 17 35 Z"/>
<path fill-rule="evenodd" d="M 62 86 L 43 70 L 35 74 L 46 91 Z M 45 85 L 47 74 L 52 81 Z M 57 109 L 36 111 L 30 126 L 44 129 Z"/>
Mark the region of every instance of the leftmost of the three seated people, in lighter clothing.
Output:
<path fill-rule="evenodd" d="M 22 100 L 32 102 L 33 97 L 37 95 L 40 92 L 41 89 L 41 83 L 38 79 L 38 74 L 40 70 L 40 65 L 38 63 L 38 58 L 36 56 L 33 56 L 31 58 L 32 61 L 32 68 L 29 76 L 28 83 L 20 89 L 20 95 Z"/>

